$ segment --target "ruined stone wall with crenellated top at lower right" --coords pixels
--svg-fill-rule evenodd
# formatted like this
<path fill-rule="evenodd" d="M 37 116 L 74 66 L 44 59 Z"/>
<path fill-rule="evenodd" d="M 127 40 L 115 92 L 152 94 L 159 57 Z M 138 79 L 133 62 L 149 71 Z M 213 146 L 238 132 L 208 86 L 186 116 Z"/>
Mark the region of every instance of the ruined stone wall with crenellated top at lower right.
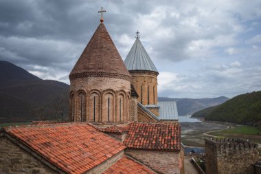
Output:
<path fill-rule="evenodd" d="M 241 139 L 205 139 L 207 174 L 254 174 L 258 144 Z"/>

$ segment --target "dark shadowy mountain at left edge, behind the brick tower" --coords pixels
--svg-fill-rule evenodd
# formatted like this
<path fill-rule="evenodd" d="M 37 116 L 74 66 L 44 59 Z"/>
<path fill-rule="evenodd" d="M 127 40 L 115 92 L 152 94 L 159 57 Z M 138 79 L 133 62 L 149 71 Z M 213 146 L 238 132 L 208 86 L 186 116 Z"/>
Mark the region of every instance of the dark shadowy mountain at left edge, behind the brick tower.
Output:
<path fill-rule="evenodd" d="M 42 80 L 12 63 L 0 61 L 0 122 L 67 116 L 69 85 Z"/>

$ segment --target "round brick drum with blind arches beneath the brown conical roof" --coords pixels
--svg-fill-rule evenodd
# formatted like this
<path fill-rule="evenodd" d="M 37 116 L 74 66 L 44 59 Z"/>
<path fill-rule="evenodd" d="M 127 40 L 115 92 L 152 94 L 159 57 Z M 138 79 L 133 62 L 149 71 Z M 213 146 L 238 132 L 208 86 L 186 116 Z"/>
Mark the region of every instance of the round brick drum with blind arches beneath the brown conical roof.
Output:
<path fill-rule="evenodd" d="M 87 77 L 71 80 L 69 120 L 128 122 L 131 83 L 120 78 Z"/>

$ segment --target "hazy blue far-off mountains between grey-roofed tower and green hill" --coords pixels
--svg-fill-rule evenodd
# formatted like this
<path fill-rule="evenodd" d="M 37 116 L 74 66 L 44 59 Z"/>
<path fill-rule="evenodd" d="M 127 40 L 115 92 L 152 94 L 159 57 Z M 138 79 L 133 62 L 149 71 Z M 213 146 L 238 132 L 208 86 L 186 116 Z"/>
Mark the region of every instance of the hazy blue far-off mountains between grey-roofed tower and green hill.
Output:
<path fill-rule="evenodd" d="M 220 105 L 229 100 L 229 98 L 221 96 L 217 98 L 164 98 L 159 97 L 159 101 L 177 101 L 179 116 L 190 115 L 201 109 Z"/>

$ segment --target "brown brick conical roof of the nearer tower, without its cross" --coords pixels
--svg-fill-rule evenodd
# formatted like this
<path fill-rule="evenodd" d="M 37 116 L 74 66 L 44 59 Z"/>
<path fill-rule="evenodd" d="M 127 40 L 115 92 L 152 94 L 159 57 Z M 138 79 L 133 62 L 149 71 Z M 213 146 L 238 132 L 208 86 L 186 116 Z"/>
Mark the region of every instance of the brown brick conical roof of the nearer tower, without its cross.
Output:
<path fill-rule="evenodd" d="M 69 75 L 73 78 L 103 76 L 131 81 L 122 58 L 103 23 L 94 32 L 82 55 Z"/>

